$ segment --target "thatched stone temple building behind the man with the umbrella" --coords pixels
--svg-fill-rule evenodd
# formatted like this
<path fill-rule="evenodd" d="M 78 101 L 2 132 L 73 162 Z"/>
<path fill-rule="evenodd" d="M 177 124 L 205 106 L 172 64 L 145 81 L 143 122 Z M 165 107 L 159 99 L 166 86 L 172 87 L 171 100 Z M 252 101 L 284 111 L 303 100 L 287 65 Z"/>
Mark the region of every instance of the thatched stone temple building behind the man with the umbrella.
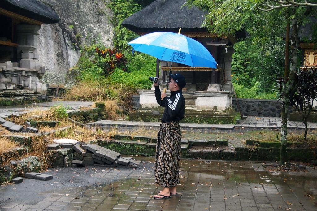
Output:
<path fill-rule="evenodd" d="M 235 111 L 232 108 L 233 88 L 231 83 L 231 62 L 233 45 L 246 35 L 243 31 L 235 35 L 223 35 L 208 32 L 203 26 L 207 11 L 196 7 L 188 8 L 186 0 L 156 0 L 122 22 L 127 29 L 139 35 L 152 32 L 175 32 L 181 27 L 181 34 L 203 44 L 217 61 L 217 69 L 189 67 L 172 63 L 172 74 L 181 73 L 186 79 L 183 89 L 186 113 L 184 122 L 197 123 L 234 123 Z M 157 76 L 161 89 L 165 87 L 169 61 L 157 60 Z M 140 109 L 130 115 L 130 119 L 153 118 L 151 111 L 158 109 L 152 90 L 139 90 Z M 194 117 L 194 118 L 193 118 Z"/>

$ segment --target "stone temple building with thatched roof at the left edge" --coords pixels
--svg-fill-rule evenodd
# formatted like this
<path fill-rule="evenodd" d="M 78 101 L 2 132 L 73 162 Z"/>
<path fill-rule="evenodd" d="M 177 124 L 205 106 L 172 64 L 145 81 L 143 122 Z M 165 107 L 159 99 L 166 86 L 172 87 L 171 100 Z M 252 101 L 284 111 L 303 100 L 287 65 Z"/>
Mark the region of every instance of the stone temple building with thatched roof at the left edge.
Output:
<path fill-rule="evenodd" d="M 56 23 L 58 15 L 37 0 L 0 2 L 0 97 L 15 99 L 45 95 L 48 85 L 40 79 L 45 73 L 38 61 L 38 30 Z"/>

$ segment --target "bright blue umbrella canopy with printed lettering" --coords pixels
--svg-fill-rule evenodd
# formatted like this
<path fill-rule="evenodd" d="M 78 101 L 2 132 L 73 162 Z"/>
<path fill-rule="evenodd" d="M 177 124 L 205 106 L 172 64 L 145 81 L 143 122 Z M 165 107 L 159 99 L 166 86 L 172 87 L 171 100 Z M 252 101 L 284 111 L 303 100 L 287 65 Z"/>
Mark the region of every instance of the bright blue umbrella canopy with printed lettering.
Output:
<path fill-rule="evenodd" d="M 199 42 L 172 32 L 154 32 L 128 43 L 134 50 L 162 61 L 173 61 L 191 67 L 217 68 L 217 62 Z"/>

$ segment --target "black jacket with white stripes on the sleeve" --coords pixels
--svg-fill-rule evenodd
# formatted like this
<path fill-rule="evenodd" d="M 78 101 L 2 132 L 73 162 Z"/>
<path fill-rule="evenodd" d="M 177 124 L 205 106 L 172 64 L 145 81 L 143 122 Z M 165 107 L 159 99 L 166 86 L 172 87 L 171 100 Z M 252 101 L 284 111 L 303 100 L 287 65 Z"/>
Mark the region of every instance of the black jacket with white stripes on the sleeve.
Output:
<path fill-rule="evenodd" d="M 184 118 L 185 114 L 185 99 L 182 94 L 182 90 L 171 91 L 170 97 L 165 97 L 163 100 L 161 99 L 161 90 L 159 86 L 155 87 L 155 97 L 156 101 L 160 106 L 165 107 L 162 122 L 172 122 L 172 121 L 180 121 Z"/>

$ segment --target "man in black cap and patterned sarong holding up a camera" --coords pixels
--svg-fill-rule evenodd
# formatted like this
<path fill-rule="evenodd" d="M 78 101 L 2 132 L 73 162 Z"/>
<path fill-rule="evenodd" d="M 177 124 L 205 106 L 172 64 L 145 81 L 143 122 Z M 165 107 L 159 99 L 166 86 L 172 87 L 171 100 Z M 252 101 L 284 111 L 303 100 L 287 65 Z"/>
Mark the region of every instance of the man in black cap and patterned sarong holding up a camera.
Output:
<path fill-rule="evenodd" d="M 164 187 L 154 199 L 170 198 L 176 195 L 176 185 L 179 183 L 178 162 L 181 154 L 182 133 L 178 121 L 184 118 L 185 99 L 182 88 L 186 85 L 181 74 L 171 76 L 168 88 L 171 96 L 161 93 L 159 83 L 154 83 L 155 97 L 159 105 L 165 107 L 162 123 L 159 127 L 155 152 L 155 183 Z"/>

